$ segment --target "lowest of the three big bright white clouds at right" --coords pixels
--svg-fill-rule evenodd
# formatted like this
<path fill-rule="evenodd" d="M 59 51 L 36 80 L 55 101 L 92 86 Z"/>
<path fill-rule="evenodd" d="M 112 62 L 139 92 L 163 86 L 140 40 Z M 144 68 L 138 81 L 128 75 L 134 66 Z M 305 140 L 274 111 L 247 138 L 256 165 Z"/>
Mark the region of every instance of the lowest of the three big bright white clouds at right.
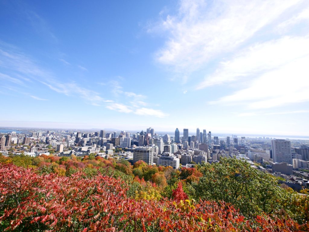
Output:
<path fill-rule="evenodd" d="M 245 104 L 248 109 L 263 109 L 290 103 L 309 101 L 309 55 L 295 59 L 284 66 L 267 71 L 254 79 L 248 88 L 212 101 Z"/>

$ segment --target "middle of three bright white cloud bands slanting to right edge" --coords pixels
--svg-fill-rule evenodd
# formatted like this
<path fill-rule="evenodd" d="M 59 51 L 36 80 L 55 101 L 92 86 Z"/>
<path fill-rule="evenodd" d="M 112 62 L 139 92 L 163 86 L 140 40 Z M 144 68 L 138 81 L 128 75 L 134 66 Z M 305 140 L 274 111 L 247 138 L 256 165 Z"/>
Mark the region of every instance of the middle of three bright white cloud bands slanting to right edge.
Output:
<path fill-rule="evenodd" d="M 226 84 L 243 77 L 254 77 L 263 71 L 273 70 L 309 54 L 309 37 L 283 37 L 257 43 L 240 51 L 230 61 L 222 62 L 214 74 L 209 75 L 196 88 Z"/>

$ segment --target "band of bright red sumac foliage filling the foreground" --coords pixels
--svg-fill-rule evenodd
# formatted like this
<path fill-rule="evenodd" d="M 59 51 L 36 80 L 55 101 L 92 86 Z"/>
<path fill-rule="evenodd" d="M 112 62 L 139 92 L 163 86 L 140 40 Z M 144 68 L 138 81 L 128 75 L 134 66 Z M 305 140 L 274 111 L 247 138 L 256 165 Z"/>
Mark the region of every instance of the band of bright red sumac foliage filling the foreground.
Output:
<path fill-rule="evenodd" d="M 0 164 L 0 230 L 16 231 L 301 231 L 291 219 L 251 221 L 231 204 L 134 200 L 121 179 L 39 175 Z M 180 192 L 181 184 L 178 186 Z M 181 189 L 181 190 L 180 190 Z M 176 191 L 174 200 L 176 200 Z M 181 199 L 185 199 L 182 195 Z"/>

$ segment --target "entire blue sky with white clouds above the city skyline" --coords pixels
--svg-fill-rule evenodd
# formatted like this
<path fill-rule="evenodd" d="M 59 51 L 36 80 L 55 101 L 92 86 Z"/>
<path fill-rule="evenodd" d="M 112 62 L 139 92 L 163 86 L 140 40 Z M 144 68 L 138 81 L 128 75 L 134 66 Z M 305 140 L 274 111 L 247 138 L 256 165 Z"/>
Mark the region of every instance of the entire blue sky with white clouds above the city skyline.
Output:
<path fill-rule="evenodd" d="M 0 126 L 309 134 L 309 1 L 0 0 Z"/>

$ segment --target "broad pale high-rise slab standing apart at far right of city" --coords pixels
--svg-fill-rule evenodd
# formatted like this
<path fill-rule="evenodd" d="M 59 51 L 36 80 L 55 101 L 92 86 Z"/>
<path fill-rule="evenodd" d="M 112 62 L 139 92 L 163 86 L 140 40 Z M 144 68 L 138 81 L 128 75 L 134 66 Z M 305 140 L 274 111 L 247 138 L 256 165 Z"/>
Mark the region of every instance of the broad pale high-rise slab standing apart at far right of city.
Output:
<path fill-rule="evenodd" d="M 276 163 L 292 162 L 291 141 L 289 140 L 271 140 L 273 150 L 273 161 Z"/>

